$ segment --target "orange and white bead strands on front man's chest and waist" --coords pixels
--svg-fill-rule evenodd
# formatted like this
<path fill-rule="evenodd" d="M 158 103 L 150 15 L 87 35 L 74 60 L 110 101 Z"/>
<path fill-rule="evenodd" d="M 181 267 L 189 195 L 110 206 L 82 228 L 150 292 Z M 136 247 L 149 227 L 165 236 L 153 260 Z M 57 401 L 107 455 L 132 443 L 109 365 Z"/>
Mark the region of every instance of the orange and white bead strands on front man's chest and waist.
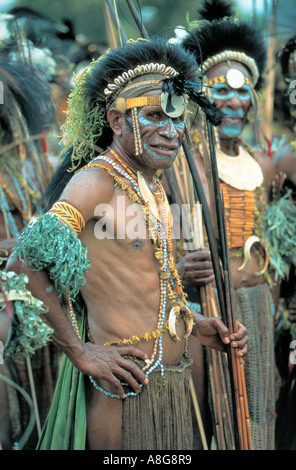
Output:
<path fill-rule="evenodd" d="M 174 256 L 173 256 L 173 244 L 171 237 L 171 221 L 168 216 L 169 211 L 167 207 L 167 200 L 165 198 L 164 189 L 157 178 L 154 178 L 154 182 L 158 189 L 155 193 L 151 193 L 155 199 L 155 203 L 159 209 L 160 219 L 155 217 L 154 213 L 150 211 L 149 201 L 145 200 L 139 187 L 139 174 L 136 176 L 135 172 L 131 170 L 120 157 L 110 149 L 111 154 L 116 159 L 116 162 L 100 155 L 95 158 L 91 163 L 84 166 L 85 168 L 99 167 L 108 172 L 108 174 L 114 179 L 114 182 L 123 190 L 127 192 L 128 197 L 133 201 L 141 204 L 146 225 L 149 231 L 150 239 L 152 240 L 155 247 L 155 257 L 159 262 L 159 288 L 160 288 L 160 304 L 158 311 L 157 326 L 155 330 L 144 333 L 142 335 L 135 335 L 128 339 L 123 339 L 121 344 L 135 344 L 141 340 L 149 341 L 154 339 L 154 347 L 151 358 L 147 360 L 147 364 L 143 367 L 143 371 L 148 377 L 157 367 L 160 367 L 161 375 L 164 374 L 164 366 L 162 364 L 163 358 L 163 344 L 162 339 L 165 331 L 168 329 L 168 322 L 165 321 L 167 312 L 167 300 L 170 301 L 172 307 L 178 307 L 180 304 L 187 305 L 185 294 L 183 292 L 181 279 L 179 277 Z M 110 166 L 106 166 L 107 163 Z M 110 168 L 111 167 L 111 168 Z M 82 170 L 81 169 L 81 170 Z M 79 170 L 79 171 L 81 171 Z M 114 173 L 114 171 L 117 173 Z M 119 176 L 118 176 L 119 175 Z M 127 180 L 130 184 L 128 185 L 121 177 Z M 75 322 L 75 316 L 73 308 L 70 307 L 70 314 L 72 317 L 72 323 L 74 329 L 78 332 L 78 327 Z M 79 332 L 78 332 L 79 334 Z M 120 344 L 116 342 L 116 344 Z M 105 346 L 115 344 L 114 342 L 105 343 Z M 187 339 L 186 339 L 187 347 Z M 95 388 L 106 395 L 119 398 L 117 394 L 111 394 L 102 387 L 100 387 L 93 377 L 90 377 L 91 382 Z M 134 392 L 128 392 L 126 396 L 137 395 Z"/>

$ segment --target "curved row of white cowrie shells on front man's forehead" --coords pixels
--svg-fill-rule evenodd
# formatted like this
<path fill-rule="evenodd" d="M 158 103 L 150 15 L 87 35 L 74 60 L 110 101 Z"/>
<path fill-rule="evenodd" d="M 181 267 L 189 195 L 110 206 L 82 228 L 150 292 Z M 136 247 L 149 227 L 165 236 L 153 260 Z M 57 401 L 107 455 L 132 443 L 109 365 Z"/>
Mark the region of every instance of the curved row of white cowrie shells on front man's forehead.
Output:
<path fill-rule="evenodd" d="M 145 64 L 138 65 L 133 70 L 130 69 L 127 72 L 123 72 L 122 75 L 119 75 L 115 78 L 114 83 L 109 83 L 107 88 L 105 88 L 104 93 L 107 97 L 111 96 L 115 91 L 125 85 L 129 80 L 133 80 L 138 76 L 144 75 L 146 73 L 160 73 L 166 77 L 176 77 L 179 73 L 173 69 L 173 67 L 167 67 L 165 64 Z"/>

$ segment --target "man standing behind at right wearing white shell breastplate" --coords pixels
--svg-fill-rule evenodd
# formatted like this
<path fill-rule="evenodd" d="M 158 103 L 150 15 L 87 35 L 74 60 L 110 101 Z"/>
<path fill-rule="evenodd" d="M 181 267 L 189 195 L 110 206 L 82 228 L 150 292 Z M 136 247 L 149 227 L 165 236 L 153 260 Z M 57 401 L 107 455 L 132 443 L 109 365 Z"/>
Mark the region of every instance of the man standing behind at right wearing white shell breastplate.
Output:
<path fill-rule="evenodd" d="M 230 3 L 206 0 L 199 13 L 200 23 L 181 43 L 202 60 L 208 96 L 225 114 L 216 132 L 216 158 L 237 316 L 247 326 L 250 343 L 245 378 L 253 447 L 273 449 L 274 312 L 263 217 L 275 171 L 263 152 L 254 151 L 241 138 L 251 110 L 255 114 L 258 110 L 256 93 L 263 84 L 266 49 L 261 34 L 253 26 L 233 17 Z M 197 169 L 212 205 L 205 129 L 202 121 L 199 122 L 199 128 L 192 131 L 192 140 Z M 193 255 L 188 254 L 187 258 L 190 256 Z M 188 299 L 191 299 L 190 291 Z M 194 343 L 194 338 L 191 342 Z"/>

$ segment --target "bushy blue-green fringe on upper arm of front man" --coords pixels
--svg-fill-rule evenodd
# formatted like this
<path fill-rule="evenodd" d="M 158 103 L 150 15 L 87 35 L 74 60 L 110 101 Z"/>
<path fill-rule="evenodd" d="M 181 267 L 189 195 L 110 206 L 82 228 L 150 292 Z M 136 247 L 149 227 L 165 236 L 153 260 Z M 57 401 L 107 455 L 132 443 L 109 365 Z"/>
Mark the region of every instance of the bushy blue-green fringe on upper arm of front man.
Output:
<path fill-rule="evenodd" d="M 33 220 L 22 232 L 14 255 L 28 261 L 37 271 L 46 269 L 59 297 L 76 298 L 85 283 L 90 264 L 86 246 L 55 214 Z"/>

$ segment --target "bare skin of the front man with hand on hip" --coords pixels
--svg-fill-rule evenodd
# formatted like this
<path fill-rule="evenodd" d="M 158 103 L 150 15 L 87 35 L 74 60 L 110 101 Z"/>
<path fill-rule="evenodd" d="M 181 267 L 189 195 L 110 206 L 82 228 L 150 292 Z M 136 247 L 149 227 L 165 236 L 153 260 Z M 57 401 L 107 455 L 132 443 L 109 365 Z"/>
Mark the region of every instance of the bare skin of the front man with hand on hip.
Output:
<path fill-rule="evenodd" d="M 152 94 L 158 92 L 159 90 Z M 158 106 L 141 108 L 139 117 L 143 154 L 134 156 L 131 116 L 122 114 L 115 108 L 108 112 L 108 120 L 114 134 L 111 148 L 134 171 L 142 171 L 153 191 L 153 176 L 157 169 L 165 169 L 172 164 L 180 148 L 184 129 L 179 125 L 181 120 L 168 120 Z M 105 155 L 114 160 L 110 152 Z M 148 379 L 141 369 L 123 356 L 133 355 L 145 360 L 151 357 L 154 342 L 139 342 L 135 346 L 104 344 L 107 341 L 121 341 L 136 331 L 144 333 L 153 330 L 157 321 L 160 293 L 158 261 L 149 237 L 136 240 L 128 237 L 116 238 L 119 230 L 125 230 L 127 234 L 131 221 L 129 216 L 123 222 L 117 219 L 119 197 L 123 198 L 127 206 L 131 205 L 125 192 L 114 187 L 113 179 L 100 168 L 77 173 L 61 196 L 61 200 L 69 202 L 79 210 L 86 223 L 79 238 L 88 248 L 91 269 L 86 273 L 86 284 L 82 287 L 81 294 L 87 307 L 88 326 L 93 343 L 83 343 L 76 336 L 59 304 L 55 290 L 49 292 L 47 289 L 50 282 L 46 272 L 36 273 L 20 261 L 14 261 L 9 267 L 17 272 L 25 270 L 28 273 L 29 288 L 33 295 L 49 306 L 45 320 L 54 329 L 53 340 L 74 366 L 85 375 L 92 375 L 107 391 L 124 399 L 122 381 L 133 391 L 140 393 L 141 385 L 146 386 Z M 111 225 L 114 228 L 114 238 L 98 240 L 94 236 L 95 224 L 101 219 L 100 215 L 94 215 L 99 204 L 108 204 L 112 209 L 111 216 L 107 215 L 105 222 L 107 230 Z M 141 210 L 139 207 L 139 215 L 142 214 Z M 141 282 L 135 282 L 135 274 Z M 169 308 L 166 316 L 168 314 Z M 246 354 L 247 337 L 242 325 L 236 334 L 230 335 L 220 319 L 206 320 L 196 316 L 195 323 L 192 335 L 204 345 L 222 351 L 225 345 L 231 343 L 239 357 Z M 177 332 L 183 338 L 184 326 L 178 325 Z M 168 334 L 164 335 L 164 364 L 179 363 L 184 351 L 184 341 L 174 342 Z M 98 392 L 89 381 L 86 383 L 89 448 L 120 449 L 122 400 L 112 399 Z"/>

